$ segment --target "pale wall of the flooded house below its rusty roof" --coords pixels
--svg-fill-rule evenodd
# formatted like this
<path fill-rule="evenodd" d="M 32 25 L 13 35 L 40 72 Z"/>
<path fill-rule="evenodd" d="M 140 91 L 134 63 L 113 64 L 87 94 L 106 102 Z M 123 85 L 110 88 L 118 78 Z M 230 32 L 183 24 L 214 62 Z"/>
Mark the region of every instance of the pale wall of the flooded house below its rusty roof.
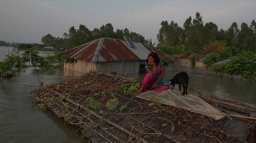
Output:
<path fill-rule="evenodd" d="M 85 62 L 80 61 L 64 64 L 64 69 L 86 73 L 92 71 L 103 71 L 106 73 L 117 72 L 117 74 L 139 73 L 139 65 L 146 64 L 146 61 L 125 61 L 125 62 Z M 165 71 L 173 71 L 174 62 L 171 62 Z"/>

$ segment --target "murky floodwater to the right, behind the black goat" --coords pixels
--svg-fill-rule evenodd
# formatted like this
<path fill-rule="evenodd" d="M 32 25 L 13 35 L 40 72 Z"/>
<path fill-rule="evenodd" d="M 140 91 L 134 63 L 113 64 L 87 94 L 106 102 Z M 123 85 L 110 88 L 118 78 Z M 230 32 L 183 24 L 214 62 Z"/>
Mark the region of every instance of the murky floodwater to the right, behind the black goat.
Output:
<path fill-rule="evenodd" d="M 188 88 L 193 89 L 193 91 L 211 93 L 220 98 L 230 98 L 256 108 L 256 82 L 221 77 L 211 69 L 206 70 L 202 64 L 191 67 L 191 64 L 186 62 L 176 62 L 174 71 L 166 72 L 164 78 L 166 80 L 172 79 L 180 71 L 188 73 L 190 77 Z M 131 74 L 129 76 L 143 79 L 145 74 Z M 178 88 L 178 85 L 174 88 Z"/>

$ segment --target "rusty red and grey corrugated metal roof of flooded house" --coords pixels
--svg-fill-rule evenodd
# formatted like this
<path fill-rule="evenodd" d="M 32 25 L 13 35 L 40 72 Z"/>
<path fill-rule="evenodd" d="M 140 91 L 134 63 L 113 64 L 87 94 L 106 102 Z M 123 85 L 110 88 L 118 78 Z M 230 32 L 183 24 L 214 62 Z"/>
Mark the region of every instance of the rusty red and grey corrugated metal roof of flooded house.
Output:
<path fill-rule="evenodd" d="M 135 47 L 129 47 L 125 40 L 99 38 L 63 53 L 72 59 L 84 60 L 86 62 L 146 60 L 151 52 L 158 53 L 160 57 L 167 56 L 164 52 L 149 45 L 140 42 L 134 42 L 134 45 Z"/>

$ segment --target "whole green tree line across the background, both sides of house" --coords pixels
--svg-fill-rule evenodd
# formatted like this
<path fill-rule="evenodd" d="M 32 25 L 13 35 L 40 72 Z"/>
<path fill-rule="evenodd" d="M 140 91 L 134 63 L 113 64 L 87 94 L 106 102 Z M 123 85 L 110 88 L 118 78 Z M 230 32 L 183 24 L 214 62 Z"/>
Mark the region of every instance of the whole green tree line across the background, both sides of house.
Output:
<path fill-rule="evenodd" d="M 97 38 L 122 39 L 123 36 L 129 36 L 133 41 L 145 42 L 154 46 L 151 40 L 146 40 L 144 36 L 129 31 L 127 28 L 124 30 L 117 29 L 114 32 L 112 24 L 107 23 L 102 25 L 100 29 L 95 28 L 92 31 L 86 28 L 85 25 L 80 25 L 78 29 L 72 26 L 68 33 L 63 34 L 63 38 L 55 38 L 48 34 L 41 39 L 43 45 L 14 43 L 14 47 L 18 47 L 19 50 L 28 50 L 33 48 L 40 49 L 43 46 L 53 46 L 56 51 L 62 51 Z M 192 19 L 189 16 L 186 19 L 183 23 L 183 28 L 174 21 L 171 21 L 170 24 L 168 21 L 162 21 L 157 39 L 159 43 L 156 48 L 169 55 L 189 55 L 192 63 L 204 58 L 203 64 L 207 69 L 213 67 L 214 71 L 223 75 L 241 75 L 242 79 L 256 81 L 255 20 L 252 21 L 250 26 L 242 23 L 238 28 L 238 24 L 234 22 L 228 30 L 218 30 L 218 26 L 213 22 L 204 24 L 201 14 L 197 12 L 195 18 Z M 250 58 L 248 59 L 248 57 Z M 224 62 L 220 64 L 220 61 L 223 60 Z M 0 65 L 9 64 L 8 62 L 4 63 L 0 63 Z M 43 67 L 42 65 L 41 67 Z M 1 69 L 3 68 L 1 67 Z"/>

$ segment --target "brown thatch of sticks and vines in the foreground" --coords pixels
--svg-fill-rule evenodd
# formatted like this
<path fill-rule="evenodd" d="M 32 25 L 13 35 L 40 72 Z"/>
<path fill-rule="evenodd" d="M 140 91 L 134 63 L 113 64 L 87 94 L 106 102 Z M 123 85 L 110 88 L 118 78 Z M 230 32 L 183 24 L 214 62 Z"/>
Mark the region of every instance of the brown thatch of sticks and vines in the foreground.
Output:
<path fill-rule="evenodd" d="M 256 142 L 255 119 L 233 117 L 246 124 L 246 134 L 235 135 L 227 131 L 228 117 L 216 121 L 169 105 L 149 105 L 151 101 L 120 91 L 120 86 L 133 80 L 91 71 L 69 81 L 48 86 L 41 83 L 31 94 L 40 108 L 76 125 L 81 137 L 90 142 Z M 244 116 L 256 111 L 212 96 L 202 97 L 216 108 L 242 111 Z M 115 108 L 108 103 L 112 99 L 118 101 Z"/>

